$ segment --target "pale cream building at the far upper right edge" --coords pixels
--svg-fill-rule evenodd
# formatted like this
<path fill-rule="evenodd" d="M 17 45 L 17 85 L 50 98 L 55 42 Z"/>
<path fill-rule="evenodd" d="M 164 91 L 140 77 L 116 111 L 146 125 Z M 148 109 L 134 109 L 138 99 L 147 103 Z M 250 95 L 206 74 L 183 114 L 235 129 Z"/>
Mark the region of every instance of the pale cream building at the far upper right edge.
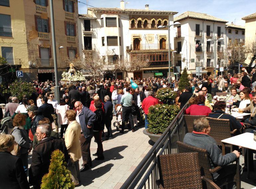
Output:
<path fill-rule="evenodd" d="M 245 20 L 245 44 L 247 46 L 250 43 L 256 42 L 256 13 L 245 16 L 242 20 Z M 245 64 L 249 65 L 252 57 L 253 54 L 249 54 Z"/>

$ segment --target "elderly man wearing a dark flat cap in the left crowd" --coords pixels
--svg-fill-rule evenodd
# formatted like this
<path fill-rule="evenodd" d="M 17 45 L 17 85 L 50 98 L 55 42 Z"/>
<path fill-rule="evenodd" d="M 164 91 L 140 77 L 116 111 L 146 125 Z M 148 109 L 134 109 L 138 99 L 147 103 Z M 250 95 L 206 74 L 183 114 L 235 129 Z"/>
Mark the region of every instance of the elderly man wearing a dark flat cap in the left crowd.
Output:
<path fill-rule="evenodd" d="M 38 115 L 38 107 L 31 106 L 27 109 L 28 115 L 31 118 L 31 126 L 29 131 L 29 138 L 33 141 L 34 135 L 37 131 L 37 126 L 39 125 L 39 121 L 44 118 L 43 115 Z"/>

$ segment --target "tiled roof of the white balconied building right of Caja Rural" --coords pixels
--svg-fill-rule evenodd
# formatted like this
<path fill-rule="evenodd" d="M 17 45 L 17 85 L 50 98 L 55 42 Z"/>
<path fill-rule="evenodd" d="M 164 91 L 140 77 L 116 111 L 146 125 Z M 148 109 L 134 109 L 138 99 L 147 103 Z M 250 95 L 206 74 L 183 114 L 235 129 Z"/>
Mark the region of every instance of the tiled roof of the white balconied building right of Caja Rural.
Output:
<path fill-rule="evenodd" d="M 174 22 L 184 20 L 187 18 L 193 18 L 193 19 L 200 19 L 200 20 L 207 20 L 207 21 L 215 21 L 215 22 L 223 22 L 227 23 L 228 21 L 217 18 L 215 16 L 211 16 L 205 13 L 197 13 L 197 12 L 192 12 L 192 11 L 187 11 L 177 17 L 174 18 Z"/>

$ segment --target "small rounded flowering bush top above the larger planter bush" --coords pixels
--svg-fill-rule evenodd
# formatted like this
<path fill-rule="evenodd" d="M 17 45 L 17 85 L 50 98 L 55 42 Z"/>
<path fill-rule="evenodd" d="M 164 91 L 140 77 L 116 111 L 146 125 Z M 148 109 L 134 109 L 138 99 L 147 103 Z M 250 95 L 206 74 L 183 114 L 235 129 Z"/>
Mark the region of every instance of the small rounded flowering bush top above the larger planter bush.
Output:
<path fill-rule="evenodd" d="M 156 98 L 164 104 L 175 104 L 176 92 L 171 88 L 161 88 L 157 90 Z"/>

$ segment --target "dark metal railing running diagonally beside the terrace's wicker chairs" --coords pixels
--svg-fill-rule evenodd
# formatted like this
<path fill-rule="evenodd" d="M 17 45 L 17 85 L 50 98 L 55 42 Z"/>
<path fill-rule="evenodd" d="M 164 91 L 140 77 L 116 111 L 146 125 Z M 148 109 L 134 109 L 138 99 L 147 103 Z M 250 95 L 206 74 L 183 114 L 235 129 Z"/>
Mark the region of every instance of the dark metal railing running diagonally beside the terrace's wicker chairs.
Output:
<path fill-rule="evenodd" d="M 121 186 L 121 189 L 142 189 L 146 187 L 148 189 L 158 188 L 156 185 L 156 180 L 159 179 L 157 156 L 162 154 L 178 153 L 178 146 L 176 142 L 183 142 L 187 131 L 187 125 L 185 124 L 184 118 L 184 113 L 187 108 L 188 102 L 127 178 Z M 140 181 L 140 179 L 142 180 Z"/>

